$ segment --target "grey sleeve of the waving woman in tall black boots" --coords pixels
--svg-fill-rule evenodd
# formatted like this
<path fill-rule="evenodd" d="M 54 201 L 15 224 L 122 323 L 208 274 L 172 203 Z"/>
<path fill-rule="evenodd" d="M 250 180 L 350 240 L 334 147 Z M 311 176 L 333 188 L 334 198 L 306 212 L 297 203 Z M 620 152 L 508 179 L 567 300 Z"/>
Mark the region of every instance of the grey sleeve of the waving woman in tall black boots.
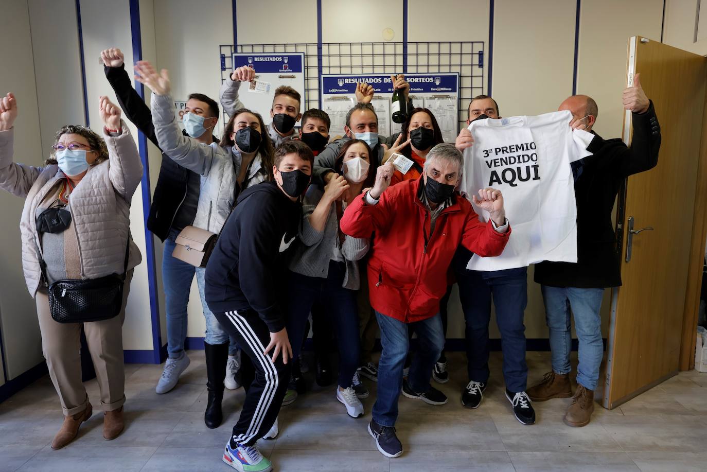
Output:
<path fill-rule="evenodd" d="M 210 146 L 182 134 L 175 119 L 175 108 L 170 94 L 153 93 L 151 110 L 160 149 L 180 166 L 199 175 L 206 175 L 211 170 L 214 159 L 228 157 L 228 151 L 218 144 Z"/>

